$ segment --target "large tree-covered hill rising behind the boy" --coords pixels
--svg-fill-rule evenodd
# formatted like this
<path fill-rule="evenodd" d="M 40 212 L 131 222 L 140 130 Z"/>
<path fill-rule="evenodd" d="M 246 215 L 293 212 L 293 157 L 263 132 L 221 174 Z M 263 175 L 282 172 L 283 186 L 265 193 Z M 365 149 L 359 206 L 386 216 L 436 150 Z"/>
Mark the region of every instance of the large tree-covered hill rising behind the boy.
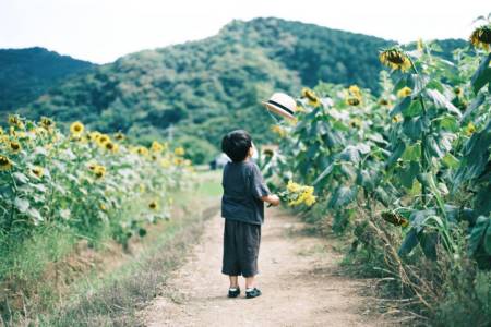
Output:
<path fill-rule="evenodd" d="M 209 144 L 216 146 L 230 129 L 267 140 L 273 121 L 260 100 L 274 90 L 298 94 L 319 81 L 376 88 L 378 51 L 390 44 L 279 19 L 233 21 L 216 36 L 98 66 L 52 88 L 24 112 L 141 138 L 171 134 L 211 153 Z"/>

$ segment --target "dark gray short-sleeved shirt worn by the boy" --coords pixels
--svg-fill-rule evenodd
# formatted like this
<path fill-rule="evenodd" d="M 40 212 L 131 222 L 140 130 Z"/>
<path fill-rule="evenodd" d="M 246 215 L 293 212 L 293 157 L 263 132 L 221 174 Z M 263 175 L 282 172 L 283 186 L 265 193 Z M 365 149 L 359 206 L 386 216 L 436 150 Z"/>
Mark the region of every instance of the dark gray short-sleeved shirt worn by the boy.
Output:
<path fill-rule="evenodd" d="M 264 183 L 261 171 L 253 161 L 228 162 L 221 180 L 221 217 L 248 223 L 264 221 L 262 196 L 271 192 Z"/>

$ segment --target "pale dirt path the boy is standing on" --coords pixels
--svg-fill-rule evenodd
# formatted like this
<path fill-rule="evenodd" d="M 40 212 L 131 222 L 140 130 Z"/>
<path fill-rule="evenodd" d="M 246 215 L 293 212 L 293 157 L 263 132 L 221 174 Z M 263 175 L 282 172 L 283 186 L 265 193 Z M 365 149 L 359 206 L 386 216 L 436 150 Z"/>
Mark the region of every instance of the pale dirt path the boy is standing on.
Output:
<path fill-rule="evenodd" d="M 338 254 L 303 225 L 278 209 L 268 209 L 263 225 L 258 287 L 263 295 L 226 298 L 220 274 L 224 219 L 206 222 L 190 261 L 176 271 L 163 295 L 141 313 L 146 326 L 381 326 L 368 315 L 358 293 L 364 281 L 336 275 Z"/>

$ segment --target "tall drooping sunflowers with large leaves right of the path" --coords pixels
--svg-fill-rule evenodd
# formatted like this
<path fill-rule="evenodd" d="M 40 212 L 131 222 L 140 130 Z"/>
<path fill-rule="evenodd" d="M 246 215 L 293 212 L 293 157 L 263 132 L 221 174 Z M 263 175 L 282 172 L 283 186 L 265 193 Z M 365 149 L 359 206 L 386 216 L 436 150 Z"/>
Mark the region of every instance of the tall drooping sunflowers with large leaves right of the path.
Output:
<path fill-rule="evenodd" d="M 261 158 L 272 187 L 314 187 L 315 204 L 300 211 L 349 235 L 349 259 L 388 280 L 403 311 L 447 326 L 491 323 L 491 24 L 482 22 L 453 62 L 422 40 L 381 50 L 390 72 L 379 95 L 303 89 L 296 121 L 272 128 L 279 150 Z"/>

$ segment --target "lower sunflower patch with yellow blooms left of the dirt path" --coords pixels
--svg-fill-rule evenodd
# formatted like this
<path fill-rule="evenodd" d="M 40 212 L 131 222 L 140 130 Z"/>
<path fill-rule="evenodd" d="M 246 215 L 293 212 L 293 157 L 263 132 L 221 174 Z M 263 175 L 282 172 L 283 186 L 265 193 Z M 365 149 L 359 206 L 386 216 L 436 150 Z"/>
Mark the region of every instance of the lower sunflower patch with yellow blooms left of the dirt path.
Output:
<path fill-rule="evenodd" d="M 81 122 L 64 135 L 49 118 L 10 116 L 0 129 L 2 252 L 46 226 L 88 239 L 109 228 L 123 245 L 143 237 L 148 222 L 169 218 L 166 193 L 185 186 L 181 177 L 192 167 L 183 154 L 159 142 L 134 146 L 122 133 L 91 132 Z M 135 199 L 147 202 L 146 213 L 122 219 L 124 205 Z"/>

